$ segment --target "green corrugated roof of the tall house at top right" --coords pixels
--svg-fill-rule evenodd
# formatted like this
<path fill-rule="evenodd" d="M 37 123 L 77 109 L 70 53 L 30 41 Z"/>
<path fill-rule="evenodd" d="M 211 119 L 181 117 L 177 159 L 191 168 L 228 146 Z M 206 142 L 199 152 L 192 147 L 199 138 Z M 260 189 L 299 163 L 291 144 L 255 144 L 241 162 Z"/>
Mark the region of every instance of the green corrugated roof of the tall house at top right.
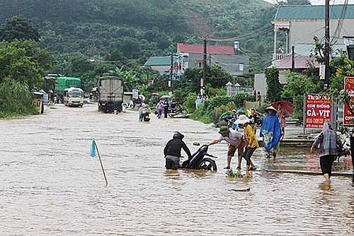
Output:
<path fill-rule="evenodd" d="M 329 6 L 329 18 L 341 18 L 344 5 L 331 5 Z M 280 19 L 324 19 L 325 6 L 279 6 L 275 14 L 274 20 Z M 354 18 L 354 5 L 348 5 L 346 8 L 346 19 Z"/>

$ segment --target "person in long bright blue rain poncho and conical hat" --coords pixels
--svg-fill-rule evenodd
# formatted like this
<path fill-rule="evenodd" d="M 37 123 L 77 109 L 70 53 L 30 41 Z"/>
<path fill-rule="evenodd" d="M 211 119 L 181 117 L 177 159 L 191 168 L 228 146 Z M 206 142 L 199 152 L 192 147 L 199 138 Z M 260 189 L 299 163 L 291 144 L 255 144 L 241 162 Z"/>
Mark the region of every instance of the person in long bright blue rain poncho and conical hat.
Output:
<path fill-rule="evenodd" d="M 268 153 L 267 158 L 270 158 L 272 148 L 273 158 L 275 158 L 276 153 L 279 151 L 279 141 L 282 136 L 282 130 L 277 117 L 277 110 L 270 106 L 265 108 L 265 112 L 268 114 L 263 119 L 259 136 L 263 137 L 263 146 Z"/>

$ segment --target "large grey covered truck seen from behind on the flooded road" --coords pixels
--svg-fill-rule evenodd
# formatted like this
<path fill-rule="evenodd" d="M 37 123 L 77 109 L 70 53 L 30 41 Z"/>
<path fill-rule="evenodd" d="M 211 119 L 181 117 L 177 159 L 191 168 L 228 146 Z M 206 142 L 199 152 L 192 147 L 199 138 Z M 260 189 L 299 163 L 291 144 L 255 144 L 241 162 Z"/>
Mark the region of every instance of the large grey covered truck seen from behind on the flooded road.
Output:
<path fill-rule="evenodd" d="M 123 79 L 105 76 L 98 79 L 98 111 L 105 113 L 122 112 Z"/>

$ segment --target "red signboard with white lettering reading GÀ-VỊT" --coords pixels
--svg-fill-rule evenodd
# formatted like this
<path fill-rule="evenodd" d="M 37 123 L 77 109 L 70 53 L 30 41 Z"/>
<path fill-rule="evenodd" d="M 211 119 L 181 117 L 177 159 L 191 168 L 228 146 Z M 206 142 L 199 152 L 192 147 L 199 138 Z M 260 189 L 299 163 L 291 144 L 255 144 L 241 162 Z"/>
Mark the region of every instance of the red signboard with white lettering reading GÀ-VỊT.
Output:
<path fill-rule="evenodd" d="M 332 96 L 307 94 L 305 98 L 306 128 L 322 128 L 326 120 L 331 122 Z"/>

